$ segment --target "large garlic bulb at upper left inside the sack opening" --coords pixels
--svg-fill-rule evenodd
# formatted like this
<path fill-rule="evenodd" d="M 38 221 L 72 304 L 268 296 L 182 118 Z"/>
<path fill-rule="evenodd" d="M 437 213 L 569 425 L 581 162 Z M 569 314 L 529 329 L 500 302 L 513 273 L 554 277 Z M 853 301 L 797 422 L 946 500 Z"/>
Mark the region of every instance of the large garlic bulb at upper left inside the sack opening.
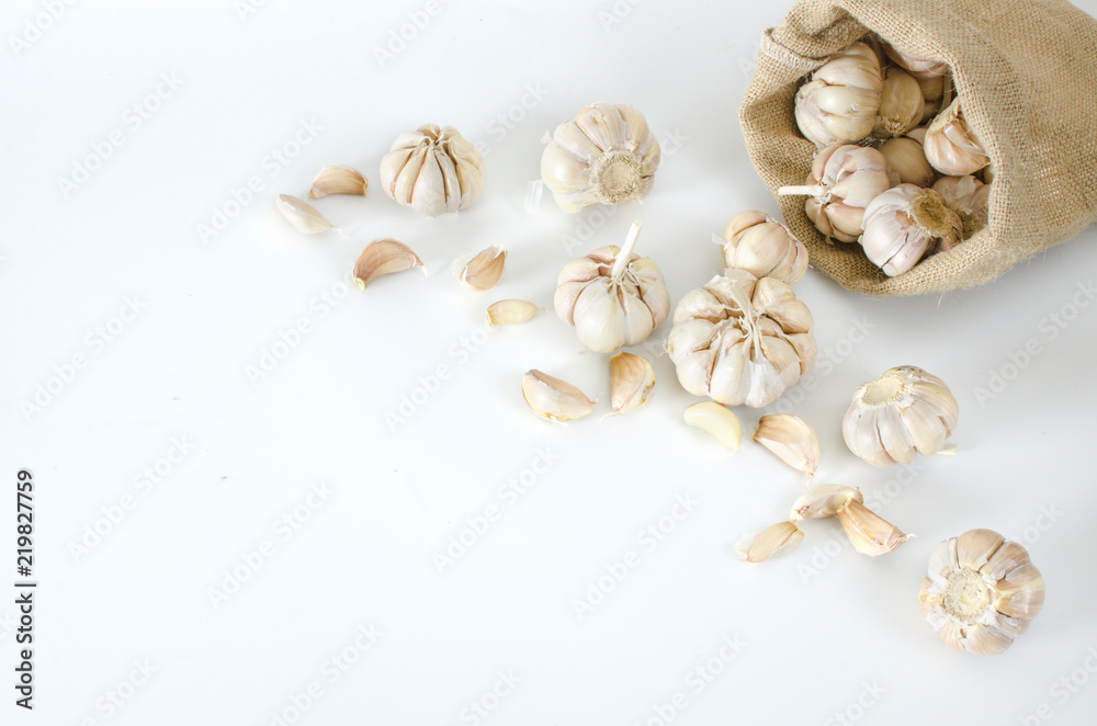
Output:
<path fill-rule="evenodd" d="M 877 55 L 855 43 L 832 56 L 796 91 L 796 125 L 815 146 L 859 141 L 877 123 L 882 87 Z"/>

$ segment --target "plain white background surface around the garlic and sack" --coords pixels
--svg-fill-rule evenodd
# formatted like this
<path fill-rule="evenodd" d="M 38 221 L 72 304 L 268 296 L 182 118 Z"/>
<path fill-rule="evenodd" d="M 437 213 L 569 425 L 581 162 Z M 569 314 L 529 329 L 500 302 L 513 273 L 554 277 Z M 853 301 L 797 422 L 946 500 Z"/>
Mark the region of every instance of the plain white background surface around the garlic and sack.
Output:
<path fill-rule="evenodd" d="M 8 2 L 0 20 L 0 552 L 14 559 L 25 467 L 39 582 L 36 707 L 16 708 L 3 685 L 0 721 L 1017 724 L 1047 723 L 1043 704 L 1055 724 L 1093 723 L 1097 314 L 1076 293 L 1094 282 L 1097 229 L 974 291 L 874 299 L 814 271 L 796 285 L 823 352 L 815 387 L 787 410 L 818 431 L 817 483 L 861 487 L 917 534 L 879 558 L 824 521 L 789 556 L 736 563 L 735 543 L 785 517 L 804 477 L 757 444 L 728 455 L 687 428 L 695 399 L 657 345 L 636 351 L 656 366 L 651 402 L 599 420 L 607 356 L 554 315 L 482 332 L 495 299 L 551 307 L 564 262 L 620 243 L 633 219 L 677 300 L 720 269 L 711 231 L 742 209 L 777 212 L 737 110 L 757 38 L 787 3 L 618 3 L 612 23 L 609 0 L 442 3 L 423 23 L 423 2 L 115 1 L 64 5 L 36 34 L 26 23 L 45 24 L 44 4 Z M 406 47 L 378 59 L 402 27 Z M 528 212 L 542 135 L 597 100 L 634 104 L 658 132 L 653 194 L 608 217 L 547 195 Z M 296 144 L 302 122 L 318 131 Z M 486 145 L 472 208 L 419 217 L 376 184 L 392 139 L 423 123 Z M 349 238 L 298 235 L 274 207 L 326 165 L 374 182 L 364 201 L 317 203 Z M 97 168 L 66 193 L 76 166 Z M 251 177 L 261 191 L 233 207 Z M 203 240 L 218 209 L 234 216 Z M 383 236 L 429 276 L 342 295 Z M 471 294 L 451 265 L 491 243 L 510 251 L 507 272 Z M 303 318 L 297 344 L 276 345 Z M 273 370 L 249 377 L 272 351 Z M 960 451 L 879 470 L 846 450 L 840 419 L 858 384 L 901 364 L 950 384 Z M 420 378 L 439 365 L 449 378 L 425 400 Z M 595 416 L 531 415 L 519 379 L 532 367 L 603 394 Z M 408 420 L 386 423 L 412 396 Z M 759 411 L 739 416 L 749 435 Z M 528 491 L 500 492 L 544 451 L 552 464 Z M 330 494 L 309 500 L 314 486 Z M 486 532 L 441 567 L 491 507 Z M 275 525 L 294 512 L 299 529 Z M 660 522 L 657 542 L 642 536 Z M 975 526 L 1022 541 L 1048 587 L 1028 634 L 995 658 L 948 649 L 918 606 L 932 547 Z M 630 552 L 635 567 L 606 579 Z M 13 564 L 3 572 L 7 591 Z M 602 599 L 580 615 L 588 594 Z M 2 684 L 13 598 L 0 605 Z M 377 634 L 367 649 L 361 627 Z M 357 660 L 332 671 L 340 654 Z"/>

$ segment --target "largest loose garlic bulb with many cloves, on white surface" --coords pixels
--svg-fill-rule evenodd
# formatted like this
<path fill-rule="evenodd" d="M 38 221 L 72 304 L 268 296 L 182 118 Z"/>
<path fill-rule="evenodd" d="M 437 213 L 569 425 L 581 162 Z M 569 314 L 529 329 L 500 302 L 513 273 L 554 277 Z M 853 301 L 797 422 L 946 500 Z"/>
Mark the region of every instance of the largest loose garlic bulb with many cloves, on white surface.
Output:
<path fill-rule="evenodd" d="M 682 388 L 768 406 L 815 364 L 812 314 L 780 280 L 726 270 L 675 308 L 667 351 Z"/>

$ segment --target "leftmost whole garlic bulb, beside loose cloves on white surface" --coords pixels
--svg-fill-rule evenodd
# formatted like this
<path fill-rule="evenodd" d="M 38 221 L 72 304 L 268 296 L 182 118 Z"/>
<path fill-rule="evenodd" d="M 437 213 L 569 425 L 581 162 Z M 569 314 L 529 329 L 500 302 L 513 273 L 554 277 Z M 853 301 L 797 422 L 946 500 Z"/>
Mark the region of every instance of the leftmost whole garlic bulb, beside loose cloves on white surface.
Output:
<path fill-rule="evenodd" d="M 400 134 L 381 160 L 381 185 L 428 217 L 456 212 L 484 191 L 484 159 L 457 129 L 433 124 Z"/>

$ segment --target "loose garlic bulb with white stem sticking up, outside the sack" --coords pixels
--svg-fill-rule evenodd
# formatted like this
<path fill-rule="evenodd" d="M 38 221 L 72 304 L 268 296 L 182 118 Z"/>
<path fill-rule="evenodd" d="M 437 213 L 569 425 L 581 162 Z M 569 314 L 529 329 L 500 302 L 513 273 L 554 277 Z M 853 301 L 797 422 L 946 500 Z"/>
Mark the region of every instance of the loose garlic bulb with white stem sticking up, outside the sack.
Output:
<path fill-rule="evenodd" d="M 579 340 L 596 353 L 644 341 L 670 313 L 659 268 L 632 252 L 637 236 L 640 223 L 634 222 L 623 248 L 600 247 L 576 258 L 556 280 L 556 315 L 575 326 Z"/>

